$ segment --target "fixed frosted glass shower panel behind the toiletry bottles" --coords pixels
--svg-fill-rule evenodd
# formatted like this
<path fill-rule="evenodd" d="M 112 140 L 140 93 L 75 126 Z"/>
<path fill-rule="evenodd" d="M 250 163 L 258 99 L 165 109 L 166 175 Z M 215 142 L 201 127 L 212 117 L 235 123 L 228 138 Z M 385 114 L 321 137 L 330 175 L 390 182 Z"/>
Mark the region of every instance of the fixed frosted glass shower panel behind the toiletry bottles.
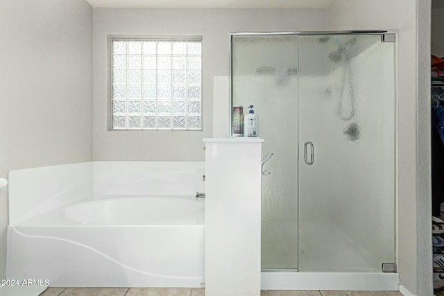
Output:
<path fill-rule="evenodd" d="M 232 105 L 254 105 L 262 159 L 262 268 L 298 268 L 298 36 L 232 35 Z"/>

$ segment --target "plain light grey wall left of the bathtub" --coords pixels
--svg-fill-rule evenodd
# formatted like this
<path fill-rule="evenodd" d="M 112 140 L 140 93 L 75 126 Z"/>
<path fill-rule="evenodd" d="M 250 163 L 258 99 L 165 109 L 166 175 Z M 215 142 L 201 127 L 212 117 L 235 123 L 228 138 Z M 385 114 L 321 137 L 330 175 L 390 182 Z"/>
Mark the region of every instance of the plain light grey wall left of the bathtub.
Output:
<path fill-rule="evenodd" d="M 92 8 L 84 0 L 0 1 L 0 177 L 92 160 Z M 6 190 L 0 191 L 0 278 Z"/>

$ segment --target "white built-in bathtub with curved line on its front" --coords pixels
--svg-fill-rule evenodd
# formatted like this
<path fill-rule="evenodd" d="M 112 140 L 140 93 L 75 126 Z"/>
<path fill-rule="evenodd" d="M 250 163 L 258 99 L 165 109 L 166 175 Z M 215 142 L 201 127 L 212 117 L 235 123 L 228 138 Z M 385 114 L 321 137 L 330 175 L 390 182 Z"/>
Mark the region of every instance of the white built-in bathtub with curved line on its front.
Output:
<path fill-rule="evenodd" d="M 201 287 L 205 202 L 96 196 L 8 226 L 8 278 L 53 287 Z"/>

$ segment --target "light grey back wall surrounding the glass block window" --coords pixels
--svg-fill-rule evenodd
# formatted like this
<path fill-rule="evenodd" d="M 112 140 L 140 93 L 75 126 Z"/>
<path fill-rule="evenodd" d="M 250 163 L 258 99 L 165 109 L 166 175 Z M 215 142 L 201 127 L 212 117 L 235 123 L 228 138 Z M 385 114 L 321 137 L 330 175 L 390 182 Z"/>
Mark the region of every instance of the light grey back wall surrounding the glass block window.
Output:
<path fill-rule="evenodd" d="M 203 161 L 212 77 L 228 75 L 229 33 L 319 31 L 326 10 L 94 9 L 94 160 Z M 108 35 L 203 37 L 203 131 L 108 131 Z"/>

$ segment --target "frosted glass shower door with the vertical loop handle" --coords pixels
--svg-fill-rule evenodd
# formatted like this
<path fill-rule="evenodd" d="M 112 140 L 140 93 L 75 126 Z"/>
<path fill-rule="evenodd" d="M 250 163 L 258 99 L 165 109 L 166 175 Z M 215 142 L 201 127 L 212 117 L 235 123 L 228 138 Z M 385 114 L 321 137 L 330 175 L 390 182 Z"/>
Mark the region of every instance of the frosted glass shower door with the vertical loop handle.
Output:
<path fill-rule="evenodd" d="M 381 270 L 395 263 L 395 43 L 299 42 L 299 270 Z"/>

